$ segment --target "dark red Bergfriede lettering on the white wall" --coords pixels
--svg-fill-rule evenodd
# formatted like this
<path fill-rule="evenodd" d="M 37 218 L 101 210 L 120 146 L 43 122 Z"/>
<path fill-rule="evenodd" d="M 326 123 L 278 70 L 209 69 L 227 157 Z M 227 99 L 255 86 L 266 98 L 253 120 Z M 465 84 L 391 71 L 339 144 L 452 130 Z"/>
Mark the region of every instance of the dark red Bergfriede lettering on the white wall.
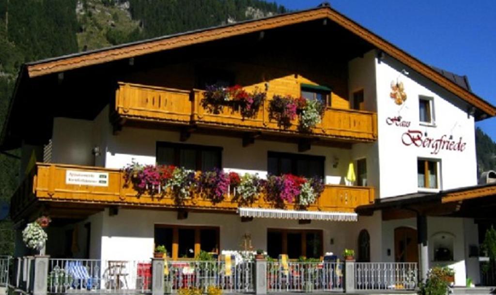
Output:
<path fill-rule="evenodd" d="M 424 136 L 420 130 L 408 130 L 401 135 L 401 142 L 405 146 L 414 146 L 417 148 L 430 148 L 431 154 L 437 154 L 440 150 L 464 151 L 467 143 L 463 142 L 460 137 L 458 141 L 450 140 L 447 135 L 440 138 Z"/>

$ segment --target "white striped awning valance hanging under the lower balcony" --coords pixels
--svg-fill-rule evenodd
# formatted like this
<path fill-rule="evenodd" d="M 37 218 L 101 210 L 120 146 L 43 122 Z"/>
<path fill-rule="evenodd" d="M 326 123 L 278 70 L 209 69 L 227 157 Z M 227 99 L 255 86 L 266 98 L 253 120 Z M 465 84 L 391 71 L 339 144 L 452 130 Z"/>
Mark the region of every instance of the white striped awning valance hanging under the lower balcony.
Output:
<path fill-rule="evenodd" d="M 358 221 L 357 213 L 298 211 L 284 209 L 238 208 L 241 217 L 306 219 L 327 221 Z"/>

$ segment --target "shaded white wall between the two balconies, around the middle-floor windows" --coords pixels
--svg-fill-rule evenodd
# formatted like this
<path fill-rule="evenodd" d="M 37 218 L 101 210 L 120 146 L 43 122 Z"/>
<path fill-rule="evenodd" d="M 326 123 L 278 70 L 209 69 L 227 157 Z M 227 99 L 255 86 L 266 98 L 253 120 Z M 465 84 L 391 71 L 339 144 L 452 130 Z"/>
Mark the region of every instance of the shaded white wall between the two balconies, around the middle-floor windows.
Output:
<path fill-rule="evenodd" d="M 123 128 L 118 136 L 109 138 L 106 151 L 107 168 L 122 168 L 132 159 L 142 164 L 155 164 L 156 143 L 179 141 L 179 132 L 150 130 L 138 128 Z M 191 134 L 184 144 L 196 144 L 222 147 L 222 166 L 226 171 L 238 173 L 258 173 L 265 177 L 267 174 L 267 151 L 298 153 L 298 145 L 294 143 L 271 142 L 255 140 L 253 145 L 242 147 L 241 138 L 211 136 L 206 134 Z M 350 149 L 312 146 L 304 154 L 325 156 L 324 174 L 327 184 L 344 184 L 344 177 L 350 161 Z M 334 157 L 339 164 L 333 168 Z"/>

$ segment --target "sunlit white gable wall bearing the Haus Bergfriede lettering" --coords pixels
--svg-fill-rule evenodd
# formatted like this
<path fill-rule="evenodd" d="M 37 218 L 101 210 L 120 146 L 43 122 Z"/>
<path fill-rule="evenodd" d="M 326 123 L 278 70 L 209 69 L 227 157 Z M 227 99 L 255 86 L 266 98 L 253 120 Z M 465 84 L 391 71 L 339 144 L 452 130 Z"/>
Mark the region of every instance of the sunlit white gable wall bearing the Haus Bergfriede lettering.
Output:
<path fill-rule="evenodd" d="M 429 82 L 392 58 L 376 62 L 378 158 L 380 163 L 380 197 L 393 197 L 418 192 L 417 158 L 440 160 L 440 189 L 448 190 L 477 184 L 474 118 L 467 114 L 467 104 Z M 402 69 L 409 72 L 402 74 Z M 389 97 L 391 81 L 403 82 L 407 99 L 397 105 Z M 434 98 L 435 126 L 419 123 L 419 96 Z M 388 117 L 401 116 L 409 127 L 388 125 Z M 404 133 L 418 130 L 422 137 L 434 140 L 445 135 L 453 141 L 466 143 L 463 151 L 405 146 Z"/>

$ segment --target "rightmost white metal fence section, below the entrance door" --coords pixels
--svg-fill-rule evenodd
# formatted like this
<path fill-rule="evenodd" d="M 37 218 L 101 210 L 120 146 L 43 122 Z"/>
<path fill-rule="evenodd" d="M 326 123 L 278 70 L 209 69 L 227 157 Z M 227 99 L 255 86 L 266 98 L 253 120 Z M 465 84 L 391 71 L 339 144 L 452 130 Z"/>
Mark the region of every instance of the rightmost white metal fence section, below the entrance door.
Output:
<path fill-rule="evenodd" d="M 414 290 L 418 266 L 413 262 L 356 262 L 356 290 Z"/>

